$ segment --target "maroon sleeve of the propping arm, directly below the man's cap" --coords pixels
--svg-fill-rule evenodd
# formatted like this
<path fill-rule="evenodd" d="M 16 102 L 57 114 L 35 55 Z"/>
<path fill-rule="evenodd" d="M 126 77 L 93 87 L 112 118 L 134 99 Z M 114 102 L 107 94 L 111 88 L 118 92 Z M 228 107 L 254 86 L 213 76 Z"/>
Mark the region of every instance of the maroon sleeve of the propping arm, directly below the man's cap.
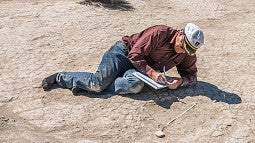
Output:
<path fill-rule="evenodd" d="M 181 86 L 194 86 L 197 82 L 197 67 L 196 67 L 197 57 L 186 56 L 185 59 L 178 64 L 177 71 L 183 79 Z"/>

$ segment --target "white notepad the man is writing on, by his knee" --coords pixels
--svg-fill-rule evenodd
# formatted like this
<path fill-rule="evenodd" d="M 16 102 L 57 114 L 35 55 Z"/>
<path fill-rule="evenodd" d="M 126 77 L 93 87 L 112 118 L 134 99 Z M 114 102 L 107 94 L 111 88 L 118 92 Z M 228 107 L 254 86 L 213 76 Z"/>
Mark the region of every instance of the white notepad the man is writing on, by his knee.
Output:
<path fill-rule="evenodd" d="M 149 78 L 148 76 L 146 76 L 140 72 L 133 72 L 133 75 L 136 76 L 137 78 L 139 78 L 140 80 L 144 81 L 146 84 L 153 87 L 154 89 L 161 89 L 161 88 L 167 87 L 166 85 L 162 85 L 162 84 L 155 82 L 154 80 L 152 80 L 151 78 Z"/>

